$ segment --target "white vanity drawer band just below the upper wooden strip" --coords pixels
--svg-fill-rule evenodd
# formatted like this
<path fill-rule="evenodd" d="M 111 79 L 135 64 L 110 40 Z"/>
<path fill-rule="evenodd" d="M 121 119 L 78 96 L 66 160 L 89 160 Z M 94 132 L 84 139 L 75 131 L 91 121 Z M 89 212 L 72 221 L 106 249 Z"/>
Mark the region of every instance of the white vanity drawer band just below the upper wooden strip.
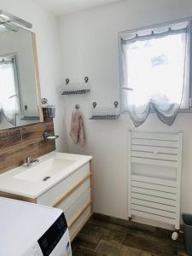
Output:
<path fill-rule="evenodd" d="M 67 210 L 73 206 L 75 201 L 79 200 L 79 196 L 83 195 L 84 192 L 90 188 L 90 177 L 85 179 L 84 183 L 82 183 L 77 189 L 74 189 L 71 194 L 69 194 L 60 204 L 56 207 L 62 209 L 63 212 L 67 212 Z"/>

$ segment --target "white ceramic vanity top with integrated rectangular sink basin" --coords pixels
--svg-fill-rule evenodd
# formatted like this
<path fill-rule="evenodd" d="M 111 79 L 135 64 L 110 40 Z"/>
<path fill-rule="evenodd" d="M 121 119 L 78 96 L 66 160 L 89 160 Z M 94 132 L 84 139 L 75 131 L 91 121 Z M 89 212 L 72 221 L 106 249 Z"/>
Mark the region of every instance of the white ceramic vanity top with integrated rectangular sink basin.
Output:
<path fill-rule="evenodd" d="M 19 166 L 0 175 L 0 191 L 38 198 L 63 178 L 84 166 L 92 156 L 51 152 L 38 163 Z"/>

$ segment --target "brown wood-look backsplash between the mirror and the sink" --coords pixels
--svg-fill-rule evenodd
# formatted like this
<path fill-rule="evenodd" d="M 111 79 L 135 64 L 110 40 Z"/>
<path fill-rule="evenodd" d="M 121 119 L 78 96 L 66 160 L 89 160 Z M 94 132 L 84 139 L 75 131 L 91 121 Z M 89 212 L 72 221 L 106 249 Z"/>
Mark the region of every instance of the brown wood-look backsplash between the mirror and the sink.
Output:
<path fill-rule="evenodd" d="M 20 166 L 27 156 L 37 158 L 55 150 L 55 141 L 44 140 L 44 131 L 54 135 L 52 120 L 0 131 L 0 173 Z"/>

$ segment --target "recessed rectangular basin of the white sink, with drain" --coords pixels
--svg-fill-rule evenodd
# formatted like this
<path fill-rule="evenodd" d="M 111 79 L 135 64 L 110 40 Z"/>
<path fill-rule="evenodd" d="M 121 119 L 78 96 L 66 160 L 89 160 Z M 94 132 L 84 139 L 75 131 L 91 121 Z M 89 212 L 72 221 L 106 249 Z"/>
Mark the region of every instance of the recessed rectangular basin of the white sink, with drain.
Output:
<path fill-rule="evenodd" d="M 76 160 L 67 160 L 55 155 L 43 162 L 26 166 L 25 171 L 15 175 L 14 178 L 30 182 L 46 182 L 55 174 L 72 166 L 75 162 Z"/>

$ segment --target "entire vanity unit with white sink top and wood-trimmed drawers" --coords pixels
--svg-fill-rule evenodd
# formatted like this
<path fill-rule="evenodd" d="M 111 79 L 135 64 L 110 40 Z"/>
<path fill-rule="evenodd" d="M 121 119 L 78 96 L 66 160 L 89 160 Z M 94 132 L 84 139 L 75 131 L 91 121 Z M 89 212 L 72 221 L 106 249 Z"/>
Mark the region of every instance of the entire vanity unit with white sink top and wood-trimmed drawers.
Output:
<path fill-rule="evenodd" d="M 60 208 L 73 241 L 92 212 L 92 172 L 92 156 L 52 152 L 0 175 L 0 196 Z"/>

